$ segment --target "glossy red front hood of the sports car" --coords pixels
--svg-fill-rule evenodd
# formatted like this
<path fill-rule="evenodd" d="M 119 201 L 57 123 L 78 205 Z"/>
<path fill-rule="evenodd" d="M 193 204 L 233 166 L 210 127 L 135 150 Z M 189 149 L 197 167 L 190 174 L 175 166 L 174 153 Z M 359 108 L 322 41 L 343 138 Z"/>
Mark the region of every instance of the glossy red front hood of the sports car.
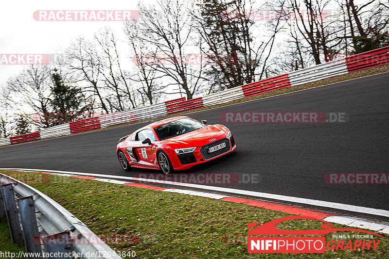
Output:
<path fill-rule="evenodd" d="M 229 129 L 223 125 L 208 125 L 201 129 L 196 129 L 182 135 L 166 139 L 162 142 L 169 144 L 177 144 L 177 146 L 189 147 L 189 146 L 204 146 L 214 141 L 223 139 L 226 137 Z M 210 141 L 211 139 L 215 139 Z"/>

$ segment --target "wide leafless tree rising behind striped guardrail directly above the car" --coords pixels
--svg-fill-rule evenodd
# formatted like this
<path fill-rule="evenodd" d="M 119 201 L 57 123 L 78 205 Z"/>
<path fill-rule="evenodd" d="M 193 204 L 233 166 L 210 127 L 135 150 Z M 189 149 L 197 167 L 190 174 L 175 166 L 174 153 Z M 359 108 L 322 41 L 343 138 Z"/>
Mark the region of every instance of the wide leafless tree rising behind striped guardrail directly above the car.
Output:
<path fill-rule="evenodd" d="M 186 54 L 186 51 L 192 50 L 193 53 L 195 49 L 191 43 L 193 17 L 188 7 L 191 3 L 179 0 L 158 0 L 156 3 L 160 17 L 155 16 L 153 6 L 140 5 L 141 33 L 136 35 L 137 41 L 155 47 L 158 52 L 155 62 L 150 65 L 158 76 L 168 80 L 164 86 L 177 86 L 178 93 L 191 99 L 200 86 L 203 67 L 201 64 L 191 65 Z"/>

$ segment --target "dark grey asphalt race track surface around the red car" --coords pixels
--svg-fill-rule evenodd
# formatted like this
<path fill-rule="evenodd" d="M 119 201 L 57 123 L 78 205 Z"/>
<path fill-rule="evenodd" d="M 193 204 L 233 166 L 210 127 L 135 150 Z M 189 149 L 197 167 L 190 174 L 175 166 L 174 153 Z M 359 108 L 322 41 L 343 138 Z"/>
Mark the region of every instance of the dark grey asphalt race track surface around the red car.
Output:
<path fill-rule="evenodd" d="M 258 174 L 257 183 L 215 185 L 389 210 L 388 184 L 327 184 L 324 181 L 324 175 L 330 173 L 388 173 L 388 86 L 389 73 L 383 73 L 189 113 L 196 119 L 207 119 L 208 124 L 221 123 L 220 115 L 225 112 L 339 112 L 347 114 L 347 121 L 223 123 L 234 134 L 237 150 L 223 159 L 180 173 L 232 173 L 240 180 L 243 175 Z M 159 173 L 154 170 L 124 172 L 116 157 L 119 138 L 146 124 L 0 147 L 0 167 L 117 176 Z"/>

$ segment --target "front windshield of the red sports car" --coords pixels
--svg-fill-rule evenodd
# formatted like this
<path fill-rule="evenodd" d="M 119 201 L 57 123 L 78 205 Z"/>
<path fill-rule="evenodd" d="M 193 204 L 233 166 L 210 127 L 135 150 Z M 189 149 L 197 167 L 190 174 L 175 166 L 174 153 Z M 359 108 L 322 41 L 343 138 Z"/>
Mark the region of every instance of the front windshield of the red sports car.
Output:
<path fill-rule="evenodd" d="M 164 140 L 188 133 L 196 129 L 201 129 L 203 127 L 205 127 L 205 125 L 196 121 L 195 119 L 183 118 L 158 126 L 154 128 L 154 130 L 155 133 L 157 133 L 159 139 Z"/>

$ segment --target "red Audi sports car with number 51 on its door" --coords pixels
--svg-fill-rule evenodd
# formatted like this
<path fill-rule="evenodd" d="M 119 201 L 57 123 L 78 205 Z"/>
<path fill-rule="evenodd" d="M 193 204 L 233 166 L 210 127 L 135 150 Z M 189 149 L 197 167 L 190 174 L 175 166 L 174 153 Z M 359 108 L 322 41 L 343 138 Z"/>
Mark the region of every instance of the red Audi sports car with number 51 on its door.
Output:
<path fill-rule="evenodd" d="M 125 171 L 161 169 L 169 174 L 228 154 L 236 149 L 230 130 L 178 116 L 151 123 L 119 140 L 116 153 Z"/>

